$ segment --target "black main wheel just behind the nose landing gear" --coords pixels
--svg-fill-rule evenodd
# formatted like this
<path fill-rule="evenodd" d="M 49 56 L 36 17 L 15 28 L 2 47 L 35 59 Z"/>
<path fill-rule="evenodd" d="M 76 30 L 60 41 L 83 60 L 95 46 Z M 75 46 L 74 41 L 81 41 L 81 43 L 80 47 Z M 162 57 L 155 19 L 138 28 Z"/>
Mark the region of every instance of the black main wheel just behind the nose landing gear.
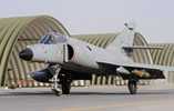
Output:
<path fill-rule="evenodd" d="M 65 80 L 62 83 L 62 93 L 63 94 L 69 94 L 71 90 L 71 81 L 70 80 Z"/>

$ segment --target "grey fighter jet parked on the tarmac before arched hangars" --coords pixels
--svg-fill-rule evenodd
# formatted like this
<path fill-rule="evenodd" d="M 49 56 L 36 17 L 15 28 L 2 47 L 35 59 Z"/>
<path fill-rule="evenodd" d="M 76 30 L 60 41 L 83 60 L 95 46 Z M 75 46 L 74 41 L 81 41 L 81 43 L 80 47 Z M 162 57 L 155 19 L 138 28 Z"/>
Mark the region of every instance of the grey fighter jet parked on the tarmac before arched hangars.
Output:
<path fill-rule="evenodd" d="M 141 79 L 165 79 L 163 71 L 174 68 L 133 62 L 130 57 L 134 49 L 162 50 L 156 47 L 133 46 L 135 22 L 125 23 L 123 31 L 105 49 L 62 36 L 47 33 L 38 44 L 27 46 L 19 57 L 30 62 L 49 65 L 30 72 L 39 82 L 53 83 L 55 95 L 69 94 L 74 80 L 92 80 L 96 75 L 120 75 L 129 80 L 131 94 L 136 93 Z"/>

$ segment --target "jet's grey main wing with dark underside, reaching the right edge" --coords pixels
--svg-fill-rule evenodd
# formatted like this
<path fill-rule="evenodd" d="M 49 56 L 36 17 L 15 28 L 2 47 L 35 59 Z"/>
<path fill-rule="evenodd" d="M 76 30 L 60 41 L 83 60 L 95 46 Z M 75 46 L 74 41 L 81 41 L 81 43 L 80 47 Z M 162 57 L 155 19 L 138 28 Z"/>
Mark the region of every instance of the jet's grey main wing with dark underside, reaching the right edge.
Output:
<path fill-rule="evenodd" d="M 121 77 L 124 80 L 129 79 L 165 79 L 163 71 L 174 71 L 174 67 L 163 67 L 163 65 L 154 65 L 154 64 L 144 64 L 144 63 L 135 63 L 135 62 L 114 62 L 106 60 L 98 60 L 98 63 L 114 65 L 116 68 L 124 68 L 129 70 L 129 73 L 120 72 Z M 144 71 L 149 73 L 149 77 L 140 77 L 134 75 L 132 71 L 139 71 L 141 73 Z"/>

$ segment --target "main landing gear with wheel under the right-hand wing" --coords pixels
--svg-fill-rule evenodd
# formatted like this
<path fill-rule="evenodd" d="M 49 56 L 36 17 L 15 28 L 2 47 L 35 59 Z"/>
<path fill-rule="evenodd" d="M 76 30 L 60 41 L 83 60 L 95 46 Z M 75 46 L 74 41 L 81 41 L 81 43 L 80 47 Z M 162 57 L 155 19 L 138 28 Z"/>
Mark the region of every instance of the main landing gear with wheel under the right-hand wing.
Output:
<path fill-rule="evenodd" d="M 136 94 L 136 91 L 137 91 L 136 82 L 137 82 L 136 80 L 129 80 L 127 87 L 131 94 Z"/>

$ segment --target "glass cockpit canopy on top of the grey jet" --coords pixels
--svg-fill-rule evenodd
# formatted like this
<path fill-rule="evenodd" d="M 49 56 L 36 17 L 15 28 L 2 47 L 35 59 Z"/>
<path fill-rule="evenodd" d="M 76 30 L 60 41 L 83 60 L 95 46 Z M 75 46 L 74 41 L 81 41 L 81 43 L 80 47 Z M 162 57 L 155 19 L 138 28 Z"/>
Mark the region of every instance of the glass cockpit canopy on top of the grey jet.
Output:
<path fill-rule="evenodd" d="M 63 43 L 66 41 L 68 41 L 68 38 L 65 36 L 62 36 L 61 33 L 58 33 L 58 32 L 49 32 L 39 41 L 39 43 L 57 44 L 57 43 Z"/>

